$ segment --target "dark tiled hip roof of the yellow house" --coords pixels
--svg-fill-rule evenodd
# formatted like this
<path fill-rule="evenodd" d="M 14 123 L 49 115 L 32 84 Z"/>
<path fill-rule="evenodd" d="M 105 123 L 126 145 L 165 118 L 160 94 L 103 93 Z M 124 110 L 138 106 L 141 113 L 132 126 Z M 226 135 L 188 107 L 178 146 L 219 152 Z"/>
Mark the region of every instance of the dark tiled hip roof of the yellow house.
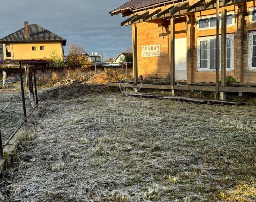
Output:
<path fill-rule="evenodd" d="M 0 39 L 0 43 L 4 42 L 31 42 L 31 41 L 62 41 L 63 45 L 66 45 L 67 40 L 58 36 L 55 33 L 50 32 L 36 24 L 31 24 L 28 26 L 29 38 L 25 37 L 25 28 L 12 33 L 3 39 Z"/>

